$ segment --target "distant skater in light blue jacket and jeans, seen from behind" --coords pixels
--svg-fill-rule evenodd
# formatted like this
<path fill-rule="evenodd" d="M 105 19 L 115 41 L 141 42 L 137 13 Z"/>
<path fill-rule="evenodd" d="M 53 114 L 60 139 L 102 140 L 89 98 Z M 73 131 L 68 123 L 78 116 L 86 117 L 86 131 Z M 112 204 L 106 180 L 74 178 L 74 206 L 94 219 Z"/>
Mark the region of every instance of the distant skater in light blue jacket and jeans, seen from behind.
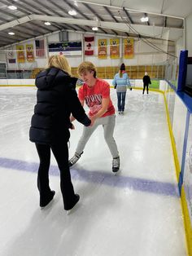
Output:
<path fill-rule="evenodd" d="M 132 90 L 129 76 L 125 71 L 124 63 L 120 65 L 120 71 L 119 73 L 116 73 L 115 77 L 113 78 L 112 85 L 116 89 L 118 113 L 124 114 L 127 87 Z"/>

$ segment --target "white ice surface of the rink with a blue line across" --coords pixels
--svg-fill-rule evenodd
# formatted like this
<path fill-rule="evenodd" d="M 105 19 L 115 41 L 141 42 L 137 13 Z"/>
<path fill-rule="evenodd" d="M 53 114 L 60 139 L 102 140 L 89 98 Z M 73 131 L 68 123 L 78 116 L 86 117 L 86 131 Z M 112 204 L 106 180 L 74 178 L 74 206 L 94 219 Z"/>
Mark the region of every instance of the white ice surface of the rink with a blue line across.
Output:
<path fill-rule="evenodd" d="M 164 96 L 127 93 L 124 116 L 116 114 L 120 174 L 99 127 L 72 167 L 81 200 L 63 210 L 59 170 L 52 156 L 50 207 L 39 208 L 38 157 L 28 129 L 35 87 L 0 87 L 1 256 L 185 256 L 185 230 L 169 137 Z M 116 90 L 111 89 L 116 106 Z M 74 122 L 70 156 L 81 136 Z"/>

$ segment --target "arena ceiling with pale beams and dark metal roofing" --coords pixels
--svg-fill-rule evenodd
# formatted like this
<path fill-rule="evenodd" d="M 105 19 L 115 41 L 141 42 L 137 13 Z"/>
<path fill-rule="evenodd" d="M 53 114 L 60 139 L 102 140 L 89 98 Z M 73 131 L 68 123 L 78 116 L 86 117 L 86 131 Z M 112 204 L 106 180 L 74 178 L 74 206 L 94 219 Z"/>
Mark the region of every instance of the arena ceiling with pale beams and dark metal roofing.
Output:
<path fill-rule="evenodd" d="M 12 5 L 17 9 L 11 11 Z M 56 31 L 176 41 L 190 13 L 191 0 L 0 0 L 0 47 Z"/>

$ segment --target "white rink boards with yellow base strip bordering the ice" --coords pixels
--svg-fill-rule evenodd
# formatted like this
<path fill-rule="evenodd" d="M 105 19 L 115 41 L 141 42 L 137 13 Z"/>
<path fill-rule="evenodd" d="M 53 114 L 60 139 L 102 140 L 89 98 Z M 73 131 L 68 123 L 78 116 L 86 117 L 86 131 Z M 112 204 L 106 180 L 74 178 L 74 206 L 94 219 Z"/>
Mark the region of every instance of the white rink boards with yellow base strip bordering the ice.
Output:
<path fill-rule="evenodd" d="M 105 79 L 112 86 L 111 79 Z M 34 79 L 0 79 L 0 86 L 34 86 Z M 142 79 L 131 80 L 133 88 L 142 90 Z M 155 90 L 155 89 L 151 89 Z M 169 134 L 172 142 L 185 234 L 189 255 L 192 256 L 192 100 L 177 93 L 170 82 L 161 80 L 159 91 L 164 95 Z"/>

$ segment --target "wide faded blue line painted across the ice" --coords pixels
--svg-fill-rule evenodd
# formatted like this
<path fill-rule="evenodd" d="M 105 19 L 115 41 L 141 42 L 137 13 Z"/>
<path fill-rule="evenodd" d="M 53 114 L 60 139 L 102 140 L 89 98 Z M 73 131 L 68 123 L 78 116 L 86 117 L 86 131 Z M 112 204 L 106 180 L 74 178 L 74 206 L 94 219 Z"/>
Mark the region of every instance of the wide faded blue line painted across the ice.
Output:
<path fill-rule="evenodd" d="M 38 163 L 15 160 L 10 158 L 0 157 L 0 166 L 13 170 L 24 170 L 37 173 Z M 57 166 L 50 166 L 50 174 L 58 176 L 59 169 Z M 112 175 L 109 173 L 102 173 L 96 170 L 75 170 L 71 169 L 72 179 L 84 180 L 92 183 L 103 183 L 105 185 L 117 188 L 130 188 L 142 192 L 151 192 L 154 194 L 162 194 L 164 196 L 179 197 L 177 184 L 159 182 L 150 179 L 138 179 L 133 177 L 126 177 L 122 175 Z"/>

